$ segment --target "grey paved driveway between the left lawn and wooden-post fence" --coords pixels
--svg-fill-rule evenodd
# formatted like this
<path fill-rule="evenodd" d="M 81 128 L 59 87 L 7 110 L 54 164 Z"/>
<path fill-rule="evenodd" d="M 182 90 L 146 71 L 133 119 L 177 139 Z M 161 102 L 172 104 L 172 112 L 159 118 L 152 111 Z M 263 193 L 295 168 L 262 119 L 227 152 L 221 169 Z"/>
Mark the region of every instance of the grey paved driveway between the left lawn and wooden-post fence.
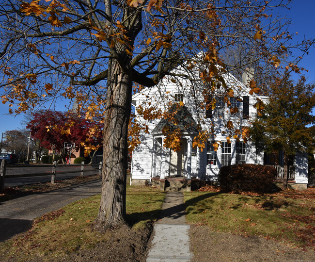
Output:
<path fill-rule="evenodd" d="M 0 242 L 31 228 L 32 220 L 101 192 L 101 179 L 0 203 Z"/>

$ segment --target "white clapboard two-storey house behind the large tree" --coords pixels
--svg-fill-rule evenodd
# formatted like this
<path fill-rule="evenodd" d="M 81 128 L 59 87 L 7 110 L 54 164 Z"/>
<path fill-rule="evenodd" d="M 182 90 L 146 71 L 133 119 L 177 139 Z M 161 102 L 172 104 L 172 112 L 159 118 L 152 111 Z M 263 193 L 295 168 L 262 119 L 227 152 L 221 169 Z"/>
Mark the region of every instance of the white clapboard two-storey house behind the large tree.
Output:
<path fill-rule="evenodd" d="M 234 130 L 242 130 L 249 126 L 250 121 L 256 117 L 256 108 L 254 104 L 257 98 L 266 100 L 266 97 L 258 97 L 256 94 L 250 95 L 251 90 L 248 87 L 251 73 L 243 74 L 243 82 L 238 81 L 229 73 L 223 74 L 226 83 L 224 88 L 232 88 L 234 97 L 229 98 L 231 106 L 227 106 L 226 101 L 220 99 L 223 89 L 220 83 L 214 88 L 216 97 L 216 107 L 214 110 L 202 109 L 196 105 L 202 103 L 203 97 L 200 92 L 205 90 L 200 83 L 201 88 L 191 88 L 188 81 L 182 80 L 180 84 L 175 83 L 171 77 L 163 79 L 160 86 L 146 88 L 141 92 L 134 94 L 132 104 L 135 107 L 137 121 L 146 123 L 148 132 L 141 132 L 141 144 L 136 147 L 132 153 L 131 180 L 132 184 L 148 184 L 152 180 L 167 180 L 172 177 L 181 177 L 186 180 L 193 178 L 201 180 L 216 180 L 220 167 L 228 164 L 264 164 L 264 153 L 256 152 L 256 148 L 247 141 L 244 143 L 239 133 L 231 133 L 227 125 L 233 124 Z M 199 93 L 198 93 L 199 92 Z M 150 108 L 157 105 L 163 110 L 165 104 L 173 99 L 175 105 L 169 109 L 169 113 L 176 111 L 176 103 L 179 110 L 173 116 L 176 119 L 176 125 L 166 119 L 145 120 L 137 112 L 139 107 Z M 231 114 L 230 108 L 237 108 L 236 114 Z M 201 120 L 202 119 L 202 120 Z M 205 148 L 193 148 L 193 138 L 198 134 L 198 123 L 202 129 L 211 130 L 211 139 L 208 140 Z M 173 151 L 164 147 L 165 134 L 162 129 L 169 126 L 172 130 L 177 128 L 181 132 L 181 150 Z M 200 130 L 200 129 L 199 129 Z M 233 138 L 238 135 L 239 141 Z M 229 141 L 227 140 L 229 137 Z M 220 145 L 215 151 L 213 144 L 218 142 Z M 231 142 L 231 143 L 229 143 Z M 265 156 L 265 164 L 266 163 Z M 282 175 L 281 167 L 279 176 Z M 307 155 L 297 154 L 294 159 L 293 174 L 290 176 L 289 185 L 303 189 L 307 187 Z M 292 172 L 291 172 L 292 173 Z"/>

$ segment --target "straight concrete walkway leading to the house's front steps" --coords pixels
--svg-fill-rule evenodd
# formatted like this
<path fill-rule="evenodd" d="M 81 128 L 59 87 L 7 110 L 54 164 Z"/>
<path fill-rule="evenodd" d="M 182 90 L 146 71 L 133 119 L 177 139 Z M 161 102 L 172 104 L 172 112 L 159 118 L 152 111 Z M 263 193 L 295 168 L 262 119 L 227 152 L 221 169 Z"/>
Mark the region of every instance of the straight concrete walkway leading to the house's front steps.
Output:
<path fill-rule="evenodd" d="M 189 262 L 192 258 L 183 197 L 181 192 L 166 193 L 147 262 Z"/>

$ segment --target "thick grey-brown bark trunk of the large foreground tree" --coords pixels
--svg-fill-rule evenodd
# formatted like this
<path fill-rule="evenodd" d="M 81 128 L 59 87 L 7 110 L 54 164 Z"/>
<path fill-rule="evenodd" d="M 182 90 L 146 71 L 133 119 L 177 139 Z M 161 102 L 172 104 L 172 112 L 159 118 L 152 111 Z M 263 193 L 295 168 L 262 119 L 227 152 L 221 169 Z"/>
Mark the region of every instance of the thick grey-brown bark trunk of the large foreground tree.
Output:
<path fill-rule="evenodd" d="M 125 62 L 127 65 L 127 56 Z M 114 59 L 110 59 L 108 70 L 102 194 L 98 215 L 93 224 L 93 228 L 100 231 L 126 224 L 127 137 L 132 79 Z"/>

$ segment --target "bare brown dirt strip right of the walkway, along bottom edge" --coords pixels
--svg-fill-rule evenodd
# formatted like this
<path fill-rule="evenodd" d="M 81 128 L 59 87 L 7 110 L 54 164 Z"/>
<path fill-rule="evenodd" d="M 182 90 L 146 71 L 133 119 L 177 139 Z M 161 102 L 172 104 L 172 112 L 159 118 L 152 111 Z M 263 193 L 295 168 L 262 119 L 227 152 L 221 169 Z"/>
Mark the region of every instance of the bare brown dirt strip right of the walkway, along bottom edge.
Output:
<path fill-rule="evenodd" d="M 192 262 L 315 261 L 315 251 L 303 251 L 265 238 L 211 232 L 205 226 L 190 226 Z"/>

